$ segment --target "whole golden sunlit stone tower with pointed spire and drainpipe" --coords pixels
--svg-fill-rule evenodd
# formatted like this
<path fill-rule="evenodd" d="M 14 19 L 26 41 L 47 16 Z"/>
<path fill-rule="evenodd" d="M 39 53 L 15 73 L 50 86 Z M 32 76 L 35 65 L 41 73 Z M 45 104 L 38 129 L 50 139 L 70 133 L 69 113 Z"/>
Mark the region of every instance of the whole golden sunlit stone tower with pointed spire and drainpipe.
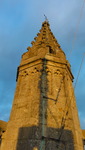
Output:
<path fill-rule="evenodd" d="M 22 55 L 1 150 L 83 150 L 73 75 L 49 26 Z"/>

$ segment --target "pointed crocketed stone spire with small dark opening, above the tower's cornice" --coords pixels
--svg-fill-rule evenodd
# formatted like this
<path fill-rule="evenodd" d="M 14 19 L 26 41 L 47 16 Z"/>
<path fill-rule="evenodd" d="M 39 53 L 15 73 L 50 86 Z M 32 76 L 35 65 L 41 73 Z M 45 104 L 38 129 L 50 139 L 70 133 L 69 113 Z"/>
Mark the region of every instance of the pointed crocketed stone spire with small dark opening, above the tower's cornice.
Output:
<path fill-rule="evenodd" d="M 29 50 L 29 57 L 44 57 L 46 54 L 49 54 L 51 56 L 57 57 L 58 59 L 63 59 L 66 61 L 65 53 L 60 48 L 60 45 L 53 35 L 47 18 L 42 23 L 40 32 L 37 34 L 31 44 L 32 47 L 27 48 Z"/>

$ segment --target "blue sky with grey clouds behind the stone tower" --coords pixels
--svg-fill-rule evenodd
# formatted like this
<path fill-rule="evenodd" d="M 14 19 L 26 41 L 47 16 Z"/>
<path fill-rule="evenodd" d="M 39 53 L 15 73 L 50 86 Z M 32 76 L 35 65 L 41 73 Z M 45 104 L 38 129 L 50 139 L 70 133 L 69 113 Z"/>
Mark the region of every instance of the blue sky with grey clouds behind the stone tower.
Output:
<path fill-rule="evenodd" d="M 85 53 L 83 4 L 84 0 L 0 0 L 0 120 L 7 121 L 9 118 L 16 87 L 17 66 L 21 55 L 41 28 L 44 14 L 70 61 L 76 80 Z M 85 59 L 75 94 L 81 127 L 85 128 Z"/>

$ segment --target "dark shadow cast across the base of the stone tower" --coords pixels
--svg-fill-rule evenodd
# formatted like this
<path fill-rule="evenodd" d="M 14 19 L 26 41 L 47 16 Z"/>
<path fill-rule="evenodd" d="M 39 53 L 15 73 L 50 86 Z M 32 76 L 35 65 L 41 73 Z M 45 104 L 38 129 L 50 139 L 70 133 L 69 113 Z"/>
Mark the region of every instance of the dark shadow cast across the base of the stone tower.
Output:
<path fill-rule="evenodd" d="M 74 141 L 72 132 L 61 129 L 47 127 L 46 137 L 42 137 L 42 129 L 38 126 L 22 127 L 19 129 L 16 150 L 43 150 L 40 149 L 42 140 L 45 140 L 44 150 L 74 150 Z"/>

